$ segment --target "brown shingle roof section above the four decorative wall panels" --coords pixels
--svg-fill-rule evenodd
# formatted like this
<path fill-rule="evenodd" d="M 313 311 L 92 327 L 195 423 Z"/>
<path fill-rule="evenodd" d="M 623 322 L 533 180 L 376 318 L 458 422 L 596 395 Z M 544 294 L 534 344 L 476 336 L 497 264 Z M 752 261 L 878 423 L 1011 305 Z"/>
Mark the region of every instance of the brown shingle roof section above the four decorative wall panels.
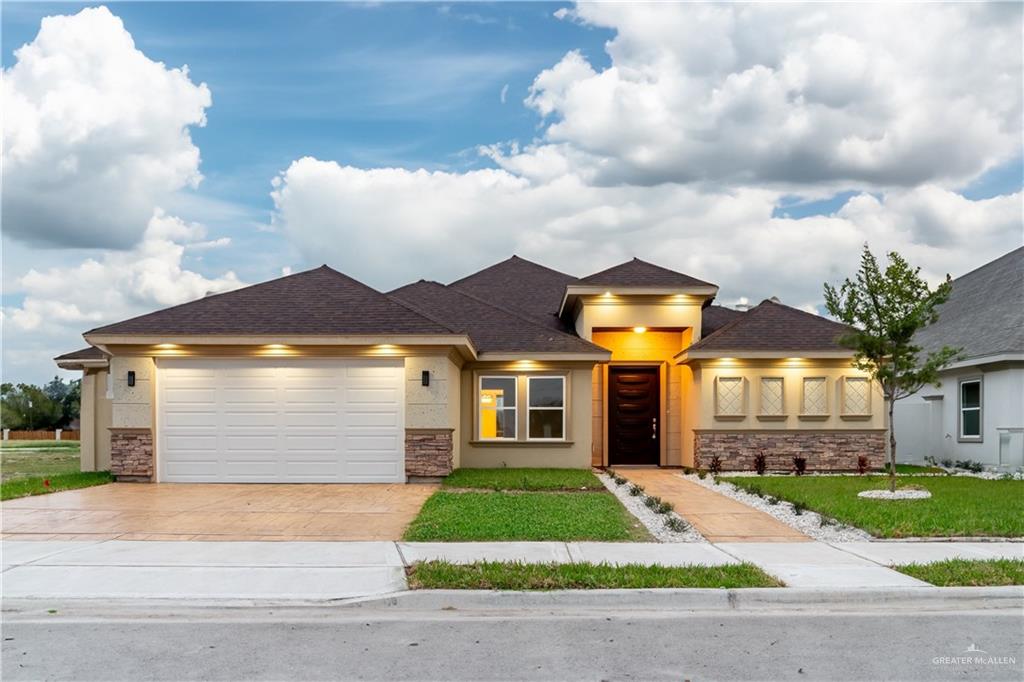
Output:
<path fill-rule="evenodd" d="M 768 300 L 703 337 L 687 352 L 847 350 L 837 339 L 850 331 L 846 325 Z"/>

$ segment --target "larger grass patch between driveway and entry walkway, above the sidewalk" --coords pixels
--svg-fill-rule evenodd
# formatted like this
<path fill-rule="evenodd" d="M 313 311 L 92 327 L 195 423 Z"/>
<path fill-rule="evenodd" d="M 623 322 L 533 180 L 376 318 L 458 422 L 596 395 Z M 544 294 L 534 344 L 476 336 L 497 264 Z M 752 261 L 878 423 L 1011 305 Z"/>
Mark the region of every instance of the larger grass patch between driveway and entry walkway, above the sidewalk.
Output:
<path fill-rule="evenodd" d="M 434 493 L 406 530 L 420 542 L 648 541 L 610 493 Z"/>

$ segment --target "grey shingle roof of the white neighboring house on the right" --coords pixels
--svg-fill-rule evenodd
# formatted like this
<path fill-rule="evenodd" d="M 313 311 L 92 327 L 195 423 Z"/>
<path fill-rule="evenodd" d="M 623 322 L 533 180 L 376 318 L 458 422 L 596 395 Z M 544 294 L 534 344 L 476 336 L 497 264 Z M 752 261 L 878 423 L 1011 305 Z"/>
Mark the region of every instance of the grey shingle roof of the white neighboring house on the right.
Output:
<path fill-rule="evenodd" d="M 963 348 L 963 359 L 1024 353 L 1024 247 L 953 280 L 939 319 L 921 330 L 925 352 Z"/>

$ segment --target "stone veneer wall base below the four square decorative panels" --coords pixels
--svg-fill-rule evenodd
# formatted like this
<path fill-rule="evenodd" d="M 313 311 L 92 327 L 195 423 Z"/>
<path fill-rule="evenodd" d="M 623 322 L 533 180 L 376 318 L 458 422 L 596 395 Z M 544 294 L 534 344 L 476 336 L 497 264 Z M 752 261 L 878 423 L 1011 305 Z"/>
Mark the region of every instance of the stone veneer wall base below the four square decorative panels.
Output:
<path fill-rule="evenodd" d="M 808 471 L 856 471 L 857 458 L 881 468 L 885 431 L 698 431 L 693 435 L 695 466 L 707 469 L 716 455 L 724 471 L 753 471 L 764 452 L 768 471 L 793 471 L 793 458 L 807 458 Z"/>

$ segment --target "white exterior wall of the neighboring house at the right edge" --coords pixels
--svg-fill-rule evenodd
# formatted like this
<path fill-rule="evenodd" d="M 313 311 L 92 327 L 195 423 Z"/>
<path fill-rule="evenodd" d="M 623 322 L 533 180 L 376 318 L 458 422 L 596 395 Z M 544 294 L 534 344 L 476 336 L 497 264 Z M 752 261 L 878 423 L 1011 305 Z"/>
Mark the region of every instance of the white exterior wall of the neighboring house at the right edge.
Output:
<path fill-rule="evenodd" d="M 899 461 L 921 462 L 930 456 L 940 461 L 998 464 L 999 428 L 1024 428 L 1024 366 L 1005 364 L 985 370 L 971 367 L 943 372 L 940 386 L 928 386 L 916 395 L 896 402 L 893 422 Z M 957 438 L 959 381 L 978 377 L 982 379 L 982 439 L 962 442 Z M 1006 463 L 1011 467 L 1024 466 L 1021 461 L 1024 434 L 1007 433 L 1004 437 L 1009 438 L 1004 443 L 1006 454 L 1015 458 Z"/>

